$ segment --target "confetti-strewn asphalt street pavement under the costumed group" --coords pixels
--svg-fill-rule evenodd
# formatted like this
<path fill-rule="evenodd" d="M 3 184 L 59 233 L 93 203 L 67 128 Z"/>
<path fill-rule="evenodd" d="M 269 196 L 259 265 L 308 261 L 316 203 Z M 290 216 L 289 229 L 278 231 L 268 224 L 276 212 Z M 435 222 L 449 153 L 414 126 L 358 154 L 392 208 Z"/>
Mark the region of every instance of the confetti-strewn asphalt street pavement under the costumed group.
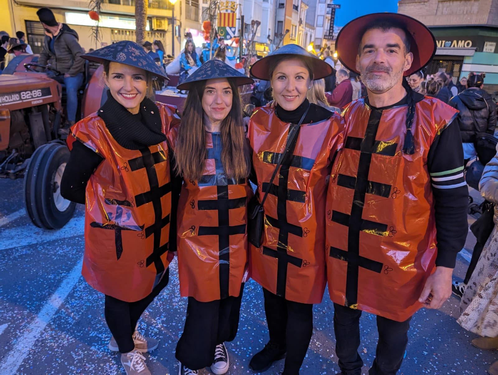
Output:
<path fill-rule="evenodd" d="M 64 228 L 46 231 L 24 212 L 22 180 L 0 180 L 0 374 L 121 374 L 120 356 L 107 348 L 111 337 L 104 319 L 103 295 L 81 277 L 83 207 Z M 473 194 L 478 196 L 474 191 Z M 469 216 L 469 223 L 475 220 Z M 455 277 L 462 280 L 475 239 L 469 231 Z M 145 354 L 152 374 L 178 374 L 174 352 L 183 330 L 186 298 L 179 296 L 176 260 L 170 282 L 143 314 L 139 329 L 159 340 Z M 459 300 L 452 296 L 441 310 L 420 310 L 413 317 L 400 374 L 486 374 L 498 352 L 480 351 L 476 335 L 462 329 Z M 314 332 L 301 374 L 335 374 L 333 304 L 328 292 L 314 306 Z M 375 317 L 361 320 L 360 354 L 368 374 L 375 354 Z M 239 333 L 227 345 L 227 374 L 250 374 L 249 359 L 267 342 L 261 288 L 246 284 Z M 283 361 L 265 374 L 278 374 Z M 211 374 L 209 369 L 200 374 Z"/>

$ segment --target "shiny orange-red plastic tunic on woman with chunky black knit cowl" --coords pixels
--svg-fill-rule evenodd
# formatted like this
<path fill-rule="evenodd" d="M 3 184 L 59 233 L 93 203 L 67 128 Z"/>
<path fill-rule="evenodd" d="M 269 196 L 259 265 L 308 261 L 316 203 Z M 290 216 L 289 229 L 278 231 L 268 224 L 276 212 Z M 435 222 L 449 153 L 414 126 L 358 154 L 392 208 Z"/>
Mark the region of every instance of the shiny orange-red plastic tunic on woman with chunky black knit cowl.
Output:
<path fill-rule="evenodd" d="M 176 108 L 156 103 L 163 133 L 179 123 Z M 86 187 L 82 274 L 99 292 L 126 302 L 150 294 L 173 258 L 168 252 L 171 182 L 168 143 L 129 150 L 118 144 L 98 112 L 72 128 L 104 158 Z"/>

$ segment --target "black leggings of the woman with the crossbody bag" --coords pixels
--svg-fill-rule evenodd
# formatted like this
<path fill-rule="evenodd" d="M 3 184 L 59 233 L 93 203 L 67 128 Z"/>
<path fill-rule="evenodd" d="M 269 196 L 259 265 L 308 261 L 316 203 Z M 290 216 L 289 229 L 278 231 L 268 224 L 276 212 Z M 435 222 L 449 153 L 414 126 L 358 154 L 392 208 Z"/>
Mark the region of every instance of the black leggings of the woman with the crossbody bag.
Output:
<path fill-rule="evenodd" d="M 270 342 L 287 349 L 284 374 L 299 374 L 313 334 L 313 305 L 288 301 L 263 288 Z"/>

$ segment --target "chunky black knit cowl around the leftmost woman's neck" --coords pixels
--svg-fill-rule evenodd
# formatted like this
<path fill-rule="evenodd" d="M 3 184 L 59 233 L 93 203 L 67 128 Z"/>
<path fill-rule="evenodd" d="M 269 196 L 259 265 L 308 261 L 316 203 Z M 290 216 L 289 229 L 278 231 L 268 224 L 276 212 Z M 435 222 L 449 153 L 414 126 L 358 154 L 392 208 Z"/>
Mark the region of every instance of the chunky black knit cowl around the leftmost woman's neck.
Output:
<path fill-rule="evenodd" d="M 162 133 L 159 109 L 145 97 L 140 103 L 140 116 L 132 115 L 107 91 L 107 101 L 97 114 L 106 123 L 116 142 L 128 150 L 140 150 L 166 140 Z"/>

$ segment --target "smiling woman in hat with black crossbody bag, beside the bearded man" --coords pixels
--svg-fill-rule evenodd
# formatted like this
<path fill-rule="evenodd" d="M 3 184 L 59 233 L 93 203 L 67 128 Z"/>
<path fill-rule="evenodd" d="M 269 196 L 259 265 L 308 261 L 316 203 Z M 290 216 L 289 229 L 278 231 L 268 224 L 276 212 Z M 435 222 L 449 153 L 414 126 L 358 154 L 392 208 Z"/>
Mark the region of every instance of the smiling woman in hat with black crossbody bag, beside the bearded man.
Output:
<path fill-rule="evenodd" d="M 248 131 L 260 202 L 267 193 L 262 246 L 250 247 L 249 270 L 263 287 L 270 340 L 252 357 L 254 371 L 286 356 L 283 374 L 299 374 L 311 340 L 313 304 L 322 301 L 325 194 L 344 126 L 338 115 L 310 104 L 306 94 L 313 79 L 331 73 L 328 63 L 296 44 L 251 67 L 253 76 L 271 82 L 276 102 L 275 108 L 254 112 Z"/>

